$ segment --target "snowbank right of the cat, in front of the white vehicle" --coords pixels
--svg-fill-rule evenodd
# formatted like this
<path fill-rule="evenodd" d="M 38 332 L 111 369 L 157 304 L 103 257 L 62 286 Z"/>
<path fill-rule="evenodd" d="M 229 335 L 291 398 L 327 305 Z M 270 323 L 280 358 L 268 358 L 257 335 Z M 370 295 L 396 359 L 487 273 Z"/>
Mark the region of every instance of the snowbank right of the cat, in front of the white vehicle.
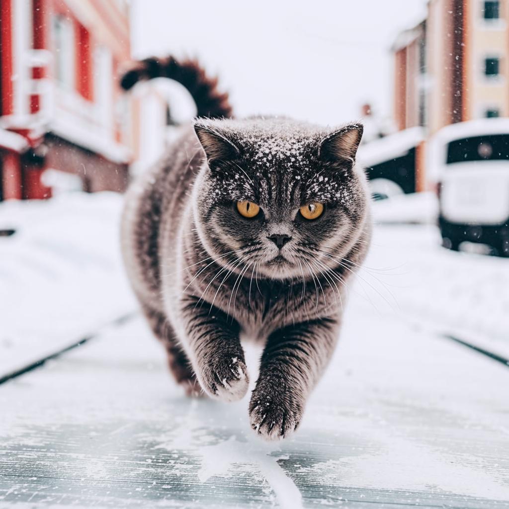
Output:
<path fill-rule="evenodd" d="M 509 260 L 440 244 L 434 225 L 378 225 L 356 293 L 398 322 L 509 356 Z"/>

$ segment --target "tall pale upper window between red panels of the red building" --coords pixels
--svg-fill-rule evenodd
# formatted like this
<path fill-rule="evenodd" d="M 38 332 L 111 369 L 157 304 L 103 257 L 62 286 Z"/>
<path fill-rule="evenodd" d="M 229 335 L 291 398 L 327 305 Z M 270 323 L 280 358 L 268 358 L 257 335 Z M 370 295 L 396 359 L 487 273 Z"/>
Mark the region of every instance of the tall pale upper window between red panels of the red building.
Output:
<path fill-rule="evenodd" d="M 55 77 L 68 90 L 75 86 L 74 27 L 72 20 L 58 15 L 53 18 Z"/>

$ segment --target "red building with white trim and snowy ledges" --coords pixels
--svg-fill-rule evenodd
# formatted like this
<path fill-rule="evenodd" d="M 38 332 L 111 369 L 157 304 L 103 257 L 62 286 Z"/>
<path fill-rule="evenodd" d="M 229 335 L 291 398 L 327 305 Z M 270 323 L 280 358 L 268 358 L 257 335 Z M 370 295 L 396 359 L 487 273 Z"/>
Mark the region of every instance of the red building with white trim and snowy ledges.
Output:
<path fill-rule="evenodd" d="M 125 0 L 0 0 L 0 200 L 122 191 L 132 160 Z"/>

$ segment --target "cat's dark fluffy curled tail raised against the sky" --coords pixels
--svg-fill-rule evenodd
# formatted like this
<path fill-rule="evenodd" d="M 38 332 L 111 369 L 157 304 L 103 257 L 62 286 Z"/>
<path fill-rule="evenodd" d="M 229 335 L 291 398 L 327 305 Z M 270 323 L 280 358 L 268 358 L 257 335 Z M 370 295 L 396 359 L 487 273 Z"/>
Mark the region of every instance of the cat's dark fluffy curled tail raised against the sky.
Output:
<path fill-rule="evenodd" d="M 217 78 L 207 76 L 205 70 L 195 60 L 179 61 L 173 56 L 140 60 L 125 72 L 120 86 L 124 90 L 129 90 L 138 81 L 159 77 L 174 79 L 189 91 L 196 103 L 198 117 L 232 116 L 228 93 L 220 93 L 217 90 Z"/>

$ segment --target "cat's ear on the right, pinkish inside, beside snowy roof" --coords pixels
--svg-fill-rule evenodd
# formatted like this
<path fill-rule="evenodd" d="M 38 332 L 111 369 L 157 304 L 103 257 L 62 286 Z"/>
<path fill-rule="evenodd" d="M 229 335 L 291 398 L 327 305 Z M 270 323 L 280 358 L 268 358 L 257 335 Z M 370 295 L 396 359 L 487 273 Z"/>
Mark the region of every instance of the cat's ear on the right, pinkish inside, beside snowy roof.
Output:
<path fill-rule="evenodd" d="M 363 130 L 362 124 L 351 124 L 326 136 L 320 145 L 320 159 L 352 167 Z"/>

